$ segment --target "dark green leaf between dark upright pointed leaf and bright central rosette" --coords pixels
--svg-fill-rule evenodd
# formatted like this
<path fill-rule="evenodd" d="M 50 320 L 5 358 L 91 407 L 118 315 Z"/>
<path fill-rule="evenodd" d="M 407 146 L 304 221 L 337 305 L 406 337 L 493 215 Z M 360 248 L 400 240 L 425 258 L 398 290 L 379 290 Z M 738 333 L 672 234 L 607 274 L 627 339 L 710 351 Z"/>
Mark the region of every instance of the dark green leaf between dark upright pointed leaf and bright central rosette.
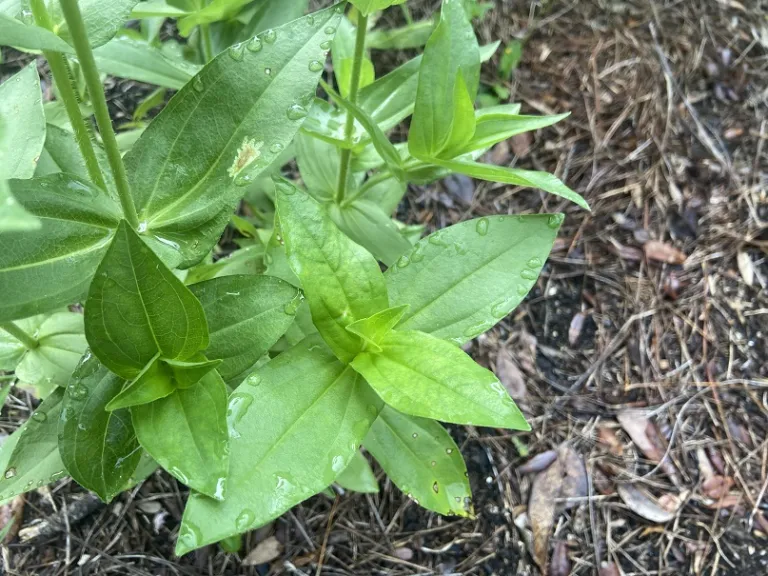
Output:
<path fill-rule="evenodd" d="M 270 276 L 224 276 L 189 288 L 208 319 L 205 354 L 223 360 L 219 374 L 232 386 L 285 334 L 300 302 L 295 287 Z"/>

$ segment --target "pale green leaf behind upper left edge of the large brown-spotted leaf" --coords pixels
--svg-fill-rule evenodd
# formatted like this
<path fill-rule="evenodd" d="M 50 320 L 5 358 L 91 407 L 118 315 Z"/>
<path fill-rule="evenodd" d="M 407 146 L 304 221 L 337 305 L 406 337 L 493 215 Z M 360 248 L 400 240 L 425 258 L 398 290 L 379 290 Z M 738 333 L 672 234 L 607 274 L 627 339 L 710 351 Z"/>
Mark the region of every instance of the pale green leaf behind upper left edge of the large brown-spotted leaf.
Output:
<path fill-rule="evenodd" d="M 93 51 L 99 70 L 172 90 L 181 89 L 199 71 L 184 60 L 173 60 L 148 42 L 120 36 Z"/>

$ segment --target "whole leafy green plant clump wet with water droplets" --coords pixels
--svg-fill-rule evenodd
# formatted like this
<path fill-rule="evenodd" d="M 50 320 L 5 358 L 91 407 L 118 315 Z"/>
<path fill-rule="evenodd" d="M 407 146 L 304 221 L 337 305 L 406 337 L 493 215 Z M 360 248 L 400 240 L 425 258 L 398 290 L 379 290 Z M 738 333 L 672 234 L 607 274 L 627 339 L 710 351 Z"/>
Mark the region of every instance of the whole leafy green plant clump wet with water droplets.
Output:
<path fill-rule="evenodd" d="M 477 162 L 561 117 L 475 111 L 493 50 L 459 0 L 444 0 L 423 56 L 375 79 L 367 21 L 393 3 L 354 0 L 357 26 L 339 4 L 233 44 L 124 157 L 94 57 L 104 35 L 89 43 L 78 3 L 31 0 L 37 24 L 0 19 L 0 44 L 44 52 L 66 114 L 46 122 L 34 64 L 0 86 L 0 368 L 44 398 L 0 449 L 0 499 L 68 474 L 108 501 L 159 465 L 192 489 L 177 552 L 229 549 L 334 482 L 376 490 L 364 446 L 420 505 L 473 513 L 436 420 L 527 429 L 459 346 L 521 302 L 563 217 L 479 218 L 419 240 L 391 214 L 407 182 L 451 172 L 586 204 L 552 175 Z M 111 30 L 131 4 L 103 3 Z M 175 14 L 182 32 L 252 8 L 195 6 Z M 280 176 L 294 157 L 306 190 Z M 228 224 L 238 249 L 214 261 Z"/>

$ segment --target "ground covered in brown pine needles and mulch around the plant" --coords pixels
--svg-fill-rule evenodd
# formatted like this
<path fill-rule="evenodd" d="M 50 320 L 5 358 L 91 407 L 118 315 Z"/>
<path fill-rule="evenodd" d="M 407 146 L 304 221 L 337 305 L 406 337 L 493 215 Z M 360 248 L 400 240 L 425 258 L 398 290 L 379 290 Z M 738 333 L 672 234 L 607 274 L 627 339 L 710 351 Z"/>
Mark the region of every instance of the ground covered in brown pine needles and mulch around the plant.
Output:
<path fill-rule="evenodd" d="M 418 17 L 438 3 L 409 4 Z M 24 527 L 67 510 L 64 529 L 4 546 L 7 573 L 540 574 L 532 539 L 541 544 L 542 503 L 531 493 L 541 479 L 520 466 L 564 444 L 585 465 L 587 491 L 554 514 L 548 574 L 768 573 L 766 14 L 762 0 L 510 0 L 478 23 L 483 43 L 524 40 L 512 78 L 498 78 L 497 55 L 486 85 L 506 87 L 523 113 L 571 112 L 485 160 L 554 172 L 592 212 L 456 177 L 411 187 L 398 210 L 430 230 L 481 215 L 567 214 L 533 292 L 468 348 L 499 372 L 533 428 L 449 428 L 476 519 L 426 512 L 376 469 L 379 494 L 317 496 L 246 535 L 239 554 L 210 546 L 179 559 L 186 490 L 168 475 L 109 505 L 62 481 L 29 495 Z M 408 54 L 373 56 L 382 73 Z M 12 68 L 4 60 L 4 73 Z M 132 95 L 147 93 L 135 84 L 111 84 L 113 110 L 130 116 Z M 7 432 L 14 407 L 31 402 L 13 394 Z M 619 423 L 627 414 L 650 447 Z M 626 486 L 651 504 L 628 505 Z M 670 519 L 653 519 L 660 507 Z M 245 566 L 273 535 L 279 556 Z"/>

